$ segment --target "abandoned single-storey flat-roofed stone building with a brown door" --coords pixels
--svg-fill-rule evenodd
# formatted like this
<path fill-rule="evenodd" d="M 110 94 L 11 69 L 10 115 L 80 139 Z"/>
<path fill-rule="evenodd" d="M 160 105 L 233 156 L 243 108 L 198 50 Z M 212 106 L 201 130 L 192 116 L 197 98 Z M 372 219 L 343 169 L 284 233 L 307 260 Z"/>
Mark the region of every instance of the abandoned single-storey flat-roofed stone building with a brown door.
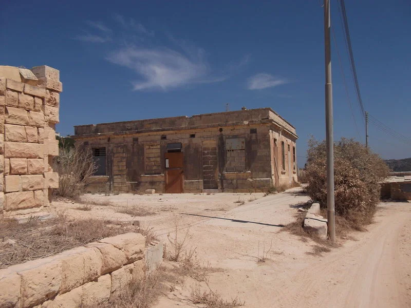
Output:
<path fill-rule="evenodd" d="M 74 126 L 87 191 L 265 191 L 297 180 L 295 128 L 271 108 Z"/>

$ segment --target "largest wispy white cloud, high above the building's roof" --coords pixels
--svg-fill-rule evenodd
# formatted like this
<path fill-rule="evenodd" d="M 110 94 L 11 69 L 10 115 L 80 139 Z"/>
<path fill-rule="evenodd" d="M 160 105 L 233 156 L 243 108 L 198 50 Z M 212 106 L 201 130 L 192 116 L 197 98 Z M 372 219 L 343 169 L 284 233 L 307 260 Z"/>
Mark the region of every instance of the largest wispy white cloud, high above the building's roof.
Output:
<path fill-rule="evenodd" d="M 107 60 L 133 69 L 142 80 L 133 82 L 134 90 L 170 89 L 209 79 L 209 66 L 202 51 L 183 54 L 170 49 L 128 47 L 107 57 Z"/>

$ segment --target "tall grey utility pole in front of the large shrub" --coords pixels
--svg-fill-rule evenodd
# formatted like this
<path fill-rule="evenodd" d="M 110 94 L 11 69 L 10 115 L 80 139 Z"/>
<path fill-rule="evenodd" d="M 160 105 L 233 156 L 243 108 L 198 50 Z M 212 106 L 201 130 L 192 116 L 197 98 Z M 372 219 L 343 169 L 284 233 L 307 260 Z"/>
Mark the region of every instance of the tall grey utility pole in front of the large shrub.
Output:
<path fill-rule="evenodd" d="M 331 40 L 330 40 L 330 1 L 324 0 L 324 45 L 325 45 L 325 129 L 327 143 L 327 226 L 328 237 L 335 242 L 334 209 L 334 138 L 332 120 L 332 82 L 331 82 Z"/>

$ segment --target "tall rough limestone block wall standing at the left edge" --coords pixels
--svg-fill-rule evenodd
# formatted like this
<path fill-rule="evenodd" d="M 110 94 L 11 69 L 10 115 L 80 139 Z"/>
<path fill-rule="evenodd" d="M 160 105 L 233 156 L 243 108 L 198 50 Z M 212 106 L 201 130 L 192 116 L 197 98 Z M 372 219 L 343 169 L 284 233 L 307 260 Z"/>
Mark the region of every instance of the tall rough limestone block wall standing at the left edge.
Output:
<path fill-rule="evenodd" d="M 0 66 L 0 211 L 25 213 L 46 205 L 59 178 L 60 72 L 48 66 Z"/>

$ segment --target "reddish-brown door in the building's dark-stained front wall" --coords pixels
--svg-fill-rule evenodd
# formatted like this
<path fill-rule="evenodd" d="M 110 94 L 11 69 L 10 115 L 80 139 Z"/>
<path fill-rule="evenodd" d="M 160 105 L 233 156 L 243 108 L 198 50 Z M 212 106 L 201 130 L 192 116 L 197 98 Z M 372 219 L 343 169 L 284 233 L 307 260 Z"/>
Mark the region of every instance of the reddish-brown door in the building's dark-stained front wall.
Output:
<path fill-rule="evenodd" d="M 165 192 L 181 194 L 183 192 L 183 153 L 165 153 Z"/>

